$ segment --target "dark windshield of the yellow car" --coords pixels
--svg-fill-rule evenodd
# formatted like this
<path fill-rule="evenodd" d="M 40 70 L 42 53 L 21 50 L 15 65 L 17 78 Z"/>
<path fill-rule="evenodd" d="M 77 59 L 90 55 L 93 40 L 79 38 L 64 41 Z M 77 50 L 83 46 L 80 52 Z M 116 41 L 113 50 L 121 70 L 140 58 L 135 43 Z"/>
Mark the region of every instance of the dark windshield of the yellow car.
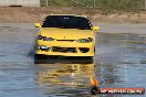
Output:
<path fill-rule="evenodd" d="M 91 30 L 91 23 L 87 18 L 82 17 L 49 15 L 45 18 L 42 28 Z"/>

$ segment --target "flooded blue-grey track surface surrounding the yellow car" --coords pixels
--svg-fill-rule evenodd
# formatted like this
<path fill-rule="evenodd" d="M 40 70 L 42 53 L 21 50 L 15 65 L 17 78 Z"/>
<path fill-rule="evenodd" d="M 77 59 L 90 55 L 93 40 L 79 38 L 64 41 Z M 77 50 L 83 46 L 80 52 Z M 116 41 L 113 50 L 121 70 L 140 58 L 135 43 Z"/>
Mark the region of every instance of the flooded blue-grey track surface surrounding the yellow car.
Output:
<path fill-rule="evenodd" d="M 98 79 L 100 87 L 146 88 L 145 35 L 98 33 L 93 61 L 62 57 L 34 61 L 36 31 L 11 29 L 0 28 L 0 97 L 91 97 L 90 75 Z"/>

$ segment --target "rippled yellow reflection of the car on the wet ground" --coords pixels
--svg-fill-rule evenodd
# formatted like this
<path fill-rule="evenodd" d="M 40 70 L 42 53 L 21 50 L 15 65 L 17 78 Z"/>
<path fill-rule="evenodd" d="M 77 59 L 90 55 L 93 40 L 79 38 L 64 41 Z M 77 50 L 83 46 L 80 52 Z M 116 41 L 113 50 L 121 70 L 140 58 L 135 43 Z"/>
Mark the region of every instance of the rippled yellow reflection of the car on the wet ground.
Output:
<path fill-rule="evenodd" d="M 40 71 L 36 80 L 41 86 L 59 86 L 85 88 L 90 83 L 90 76 L 94 75 L 93 63 L 55 63 L 35 64 Z"/>

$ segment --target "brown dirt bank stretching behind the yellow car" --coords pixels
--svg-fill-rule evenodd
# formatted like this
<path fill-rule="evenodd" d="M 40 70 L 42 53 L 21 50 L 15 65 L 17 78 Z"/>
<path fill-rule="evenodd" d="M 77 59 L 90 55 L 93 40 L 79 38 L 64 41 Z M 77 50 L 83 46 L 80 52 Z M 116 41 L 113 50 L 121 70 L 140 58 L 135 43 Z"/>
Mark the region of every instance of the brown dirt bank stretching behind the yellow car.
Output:
<path fill-rule="evenodd" d="M 146 11 L 104 12 L 84 8 L 0 8 L 0 22 L 41 22 L 50 13 L 88 15 L 94 22 L 146 23 Z"/>

